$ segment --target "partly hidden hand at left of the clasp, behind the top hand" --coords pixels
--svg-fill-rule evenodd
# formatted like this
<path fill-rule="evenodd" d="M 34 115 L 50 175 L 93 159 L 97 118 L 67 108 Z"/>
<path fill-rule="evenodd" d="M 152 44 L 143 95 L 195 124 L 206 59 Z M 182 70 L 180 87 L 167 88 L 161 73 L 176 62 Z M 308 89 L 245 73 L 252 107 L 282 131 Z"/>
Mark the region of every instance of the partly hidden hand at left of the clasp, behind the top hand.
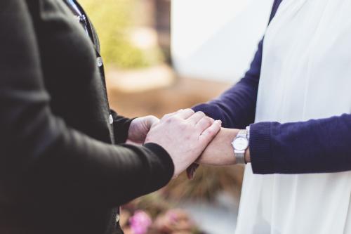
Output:
<path fill-rule="evenodd" d="M 159 122 L 159 118 L 152 115 L 133 119 L 128 131 L 128 141 L 143 144 L 151 126 Z"/>

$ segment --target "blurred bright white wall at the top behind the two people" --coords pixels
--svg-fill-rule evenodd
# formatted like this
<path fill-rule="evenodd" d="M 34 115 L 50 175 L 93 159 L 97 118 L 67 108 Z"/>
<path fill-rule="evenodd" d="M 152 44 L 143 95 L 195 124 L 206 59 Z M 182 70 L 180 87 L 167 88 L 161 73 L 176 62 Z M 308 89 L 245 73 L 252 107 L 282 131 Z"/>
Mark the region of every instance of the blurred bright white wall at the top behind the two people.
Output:
<path fill-rule="evenodd" d="M 171 54 L 185 77 L 236 82 L 263 37 L 273 0 L 171 1 Z"/>

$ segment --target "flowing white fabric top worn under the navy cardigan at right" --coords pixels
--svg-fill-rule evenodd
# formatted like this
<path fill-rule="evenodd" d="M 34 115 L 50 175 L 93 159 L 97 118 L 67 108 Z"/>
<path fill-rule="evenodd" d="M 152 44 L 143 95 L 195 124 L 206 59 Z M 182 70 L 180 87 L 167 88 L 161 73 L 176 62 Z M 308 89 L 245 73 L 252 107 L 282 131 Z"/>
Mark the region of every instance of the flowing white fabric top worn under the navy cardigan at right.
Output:
<path fill-rule="evenodd" d="M 265 34 L 256 122 L 350 110 L 351 0 L 284 0 Z M 351 234 L 350 194 L 350 171 L 263 176 L 248 165 L 236 233 Z"/>

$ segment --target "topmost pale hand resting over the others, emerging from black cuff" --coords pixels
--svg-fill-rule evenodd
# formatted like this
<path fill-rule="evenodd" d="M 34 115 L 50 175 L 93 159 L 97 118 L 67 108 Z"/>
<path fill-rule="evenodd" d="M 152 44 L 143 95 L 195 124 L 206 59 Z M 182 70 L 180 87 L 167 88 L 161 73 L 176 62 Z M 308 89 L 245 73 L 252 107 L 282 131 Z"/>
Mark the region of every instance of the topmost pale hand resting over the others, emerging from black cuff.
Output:
<path fill-rule="evenodd" d="M 145 143 L 157 143 L 171 155 L 178 176 L 192 164 L 220 130 L 221 122 L 191 109 L 165 115 L 154 124 Z"/>

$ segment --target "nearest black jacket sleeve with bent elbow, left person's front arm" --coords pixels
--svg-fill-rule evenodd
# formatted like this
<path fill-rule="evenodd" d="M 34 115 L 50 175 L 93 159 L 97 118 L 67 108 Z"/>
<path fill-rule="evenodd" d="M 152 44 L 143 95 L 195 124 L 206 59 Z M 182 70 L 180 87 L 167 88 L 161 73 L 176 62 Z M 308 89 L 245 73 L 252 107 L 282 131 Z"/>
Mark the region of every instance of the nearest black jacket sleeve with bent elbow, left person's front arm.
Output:
<path fill-rule="evenodd" d="M 159 145 L 109 145 L 53 115 L 26 1 L 0 1 L 1 197 L 123 204 L 166 185 L 173 162 Z"/>

